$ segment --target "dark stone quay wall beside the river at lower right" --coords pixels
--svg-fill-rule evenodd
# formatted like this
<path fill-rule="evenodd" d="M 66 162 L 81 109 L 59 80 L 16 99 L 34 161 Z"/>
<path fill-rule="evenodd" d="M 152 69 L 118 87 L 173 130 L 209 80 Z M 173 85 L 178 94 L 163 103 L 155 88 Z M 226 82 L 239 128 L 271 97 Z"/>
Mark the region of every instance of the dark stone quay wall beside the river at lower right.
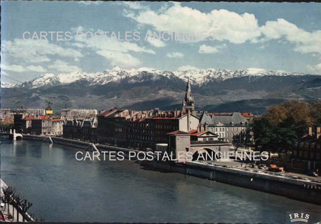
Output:
<path fill-rule="evenodd" d="M 321 205 L 321 184 L 318 183 L 304 183 L 304 181 L 301 180 L 285 179 L 242 170 L 232 170 L 193 161 L 177 165 L 164 164 L 160 161 L 142 161 L 142 164 Z"/>

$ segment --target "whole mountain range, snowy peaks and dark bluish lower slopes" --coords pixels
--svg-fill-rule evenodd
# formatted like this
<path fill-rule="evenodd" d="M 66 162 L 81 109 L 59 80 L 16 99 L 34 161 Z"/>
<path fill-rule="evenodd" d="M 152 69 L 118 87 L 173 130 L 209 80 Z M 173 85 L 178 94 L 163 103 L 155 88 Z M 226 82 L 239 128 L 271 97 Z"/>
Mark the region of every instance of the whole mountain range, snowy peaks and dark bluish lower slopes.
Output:
<path fill-rule="evenodd" d="M 134 110 L 181 108 L 190 78 L 198 110 L 262 113 L 285 100 L 321 100 L 321 76 L 263 69 L 186 69 L 161 71 L 151 68 L 104 72 L 73 72 L 39 77 L 10 85 L 1 83 L 1 108 L 45 107 Z"/>

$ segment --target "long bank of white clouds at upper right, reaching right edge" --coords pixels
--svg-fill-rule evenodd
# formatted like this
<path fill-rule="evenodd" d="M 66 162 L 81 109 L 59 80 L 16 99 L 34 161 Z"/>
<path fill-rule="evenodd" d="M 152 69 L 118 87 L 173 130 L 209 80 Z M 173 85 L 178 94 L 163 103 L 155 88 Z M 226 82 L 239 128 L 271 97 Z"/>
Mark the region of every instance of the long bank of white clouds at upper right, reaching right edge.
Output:
<path fill-rule="evenodd" d="M 321 30 L 308 32 L 282 18 L 267 21 L 264 26 L 259 27 L 257 19 L 250 13 L 238 14 L 225 9 L 204 13 L 183 7 L 179 2 L 172 3 L 170 7 L 167 4 L 162 10 L 131 11 L 124 16 L 135 20 L 139 26 L 150 26 L 160 32 L 206 32 L 206 37 L 236 44 L 279 39 L 281 43 L 294 44 L 294 51 L 321 54 Z"/>

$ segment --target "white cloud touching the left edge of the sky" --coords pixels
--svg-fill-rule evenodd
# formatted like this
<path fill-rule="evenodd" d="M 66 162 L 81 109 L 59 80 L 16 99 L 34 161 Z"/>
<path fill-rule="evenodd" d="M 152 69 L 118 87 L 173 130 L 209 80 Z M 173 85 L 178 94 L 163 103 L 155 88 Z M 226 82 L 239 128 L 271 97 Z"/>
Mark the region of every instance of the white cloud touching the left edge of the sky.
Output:
<path fill-rule="evenodd" d="M 49 62 L 49 55 L 62 57 L 83 57 L 80 51 L 73 48 L 63 48 L 48 40 L 14 39 L 3 40 L 1 43 L 1 56 L 28 63 Z"/>

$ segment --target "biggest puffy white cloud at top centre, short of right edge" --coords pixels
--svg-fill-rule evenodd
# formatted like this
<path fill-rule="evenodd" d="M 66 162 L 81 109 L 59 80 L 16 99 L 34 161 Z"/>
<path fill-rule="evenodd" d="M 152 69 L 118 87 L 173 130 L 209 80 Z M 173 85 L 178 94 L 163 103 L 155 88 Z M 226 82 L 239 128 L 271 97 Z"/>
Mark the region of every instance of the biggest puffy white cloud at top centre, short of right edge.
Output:
<path fill-rule="evenodd" d="M 125 16 L 148 25 L 157 31 L 196 33 L 206 32 L 216 40 L 244 43 L 259 37 L 259 26 L 253 14 L 238 14 L 225 9 L 203 13 L 197 9 L 182 7 L 180 3 L 162 11 L 144 10 Z M 188 22 L 187 22 L 188 21 Z M 212 33 L 211 33 L 212 32 Z"/>

